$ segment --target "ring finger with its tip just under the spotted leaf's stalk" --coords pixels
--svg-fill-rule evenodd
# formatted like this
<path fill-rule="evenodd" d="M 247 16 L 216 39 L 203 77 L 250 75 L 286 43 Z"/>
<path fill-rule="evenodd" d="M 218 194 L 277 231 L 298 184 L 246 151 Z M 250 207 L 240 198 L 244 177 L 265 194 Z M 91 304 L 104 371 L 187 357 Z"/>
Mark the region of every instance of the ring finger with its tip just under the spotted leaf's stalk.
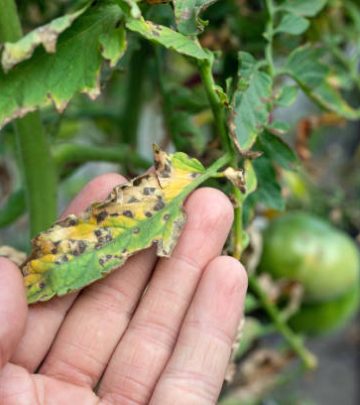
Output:
<path fill-rule="evenodd" d="M 177 247 L 171 258 L 159 261 L 100 385 L 99 395 L 113 403 L 148 403 L 202 270 L 229 232 L 233 209 L 220 191 L 197 190 L 185 209 L 188 219 Z"/>

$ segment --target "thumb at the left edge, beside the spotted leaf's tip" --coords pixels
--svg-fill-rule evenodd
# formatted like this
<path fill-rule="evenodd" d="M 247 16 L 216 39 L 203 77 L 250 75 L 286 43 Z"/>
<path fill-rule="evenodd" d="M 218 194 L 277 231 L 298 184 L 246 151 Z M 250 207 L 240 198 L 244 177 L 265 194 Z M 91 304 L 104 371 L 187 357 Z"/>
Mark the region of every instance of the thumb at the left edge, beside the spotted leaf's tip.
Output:
<path fill-rule="evenodd" d="M 0 257 L 0 369 L 8 362 L 25 329 L 27 305 L 20 270 Z"/>

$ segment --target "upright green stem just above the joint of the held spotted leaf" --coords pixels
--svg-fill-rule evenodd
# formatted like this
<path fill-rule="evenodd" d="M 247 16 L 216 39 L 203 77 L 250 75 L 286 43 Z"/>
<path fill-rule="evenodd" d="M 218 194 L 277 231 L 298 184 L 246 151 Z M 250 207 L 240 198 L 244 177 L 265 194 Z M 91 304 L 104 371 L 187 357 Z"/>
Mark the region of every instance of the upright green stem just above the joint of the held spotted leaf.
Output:
<path fill-rule="evenodd" d="M 230 143 L 230 138 L 227 133 L 226 129 L 226 118 L 225 118 L 225 111 L 224 106 L 221 103 L 221 100 L 216 93 L 216 83 L 214 81 L 214 77 L 212 74 L 212 64 L 210 61 L 205 60 L 201 61 L 198 64 L 201 80 L 204 84 L 205 91 L 210 103 L 210 107 L 212 109 L 214 119 L 215 119 L 215 126 L 219 133 L 219 137 L 221 140 L 221 144 L 226 152 L 230 154 L 234 154 L 233 147 Z"/>

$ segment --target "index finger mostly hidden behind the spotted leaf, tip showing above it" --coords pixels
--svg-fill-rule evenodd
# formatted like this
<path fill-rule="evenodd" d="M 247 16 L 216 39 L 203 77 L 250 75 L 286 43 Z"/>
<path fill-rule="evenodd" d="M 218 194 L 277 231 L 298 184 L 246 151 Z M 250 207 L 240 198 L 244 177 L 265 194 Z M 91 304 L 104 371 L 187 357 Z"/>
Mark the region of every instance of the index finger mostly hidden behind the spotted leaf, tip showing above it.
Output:
<path fill-rule="evenodd" d="M 93 201 L 104 199 L 124 177 L 101 175 L 92 180 L 66 209 L 62 217 L 85 210 Z M 12 357 L 12 362 L 29 371 L 37 369 L 48 352 L 63 319 L 76 298 L 76 293 L 29 307 L 25 334 Z"/>

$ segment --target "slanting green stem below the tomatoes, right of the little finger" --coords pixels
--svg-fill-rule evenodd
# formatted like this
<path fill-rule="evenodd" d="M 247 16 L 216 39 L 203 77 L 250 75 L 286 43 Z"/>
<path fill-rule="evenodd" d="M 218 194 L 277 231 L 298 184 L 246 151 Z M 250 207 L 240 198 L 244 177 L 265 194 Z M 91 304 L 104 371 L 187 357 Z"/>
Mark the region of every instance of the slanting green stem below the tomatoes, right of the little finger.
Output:
<path fill-rule="evenodd" d="M 303 345 L 301 339 L 289 328 L 286 322 L 284 322 L 278 308 L 270 301 L 255 276 L 249 276 L 249 287 L 257 295 L 262 307 L 269 315 L 276 329 L 282 334 L 289 346 L 299 356 L 304 366 L 308 369 L 316 368 L 316 357 Z"/>

